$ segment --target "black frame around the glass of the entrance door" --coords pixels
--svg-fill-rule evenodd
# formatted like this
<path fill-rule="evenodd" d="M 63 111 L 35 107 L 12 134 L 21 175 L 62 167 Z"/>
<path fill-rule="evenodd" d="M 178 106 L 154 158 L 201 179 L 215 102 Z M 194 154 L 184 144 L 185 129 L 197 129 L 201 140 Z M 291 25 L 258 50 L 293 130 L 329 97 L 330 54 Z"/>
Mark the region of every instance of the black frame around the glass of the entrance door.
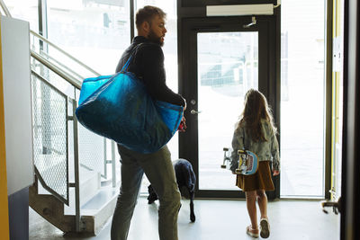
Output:
<path fill-rule="evenodd" d="M 259 34 L 260 49 L 266 49 L 262 58 L 267 59 L 267 64 L 261 66 L 259 55 L 258 89 L 266 95 L 269 104 L 272 106 L 275 124 L 280 132 L 280 8 L 275 9 L 276 14 L 270 16 L 257 15 L 257 25 L 249 29 L 242 27 L 243 24 L 251 22 L 252 16 L 232 17 L 194 17 L 180 18 L 179 32 L 179 92 L 187 100 L 187 110 L 184 112 L 188 130 L 179 134 L 179 157 L 189 160 L 193 164 L 196 176 L 199 176 L 198 158 L 198 131 L 197 118 L 190 114 L 192 105 L 191 99 L 196 100 L 193 106 L 197 111 L 197 42 L 198 32 L 219 32 L 219 31 L 254 31 Z M 266 32 L 267 42 L 261 37 Z M 263 62 L 264 63 L 264 62 Z M 262 71 L 260 71 L 262 69 Z M 196 81 L 193 80 L 195 77 Z M 196 82 L 196 83 L 193 83 Z M 196 97 L 195 97 L 196 96 Z M 190 129 L 195 130 L 190 131 Z M 280 146 L 280 134 L 278 135 Z M 229 143 L 230 144 L 230 143 Z M 189 147 L 190 146 L 190 147 Z M 221 150 L 221 149 L 220 149 Z M 220 159 L 220 162 L 222 159 Z M 230 174 L 230 173 L 229 173 Z M 280 196 L 280 176 L 273 178 L 275 191 L 267 192 L 269 200 Z M 235 182 L 235 176 L 234 176 Z M 245 198 L 242 191 L 208 191 L 199 190 L 199 177 L 196 182 L 196 198 Z"/>

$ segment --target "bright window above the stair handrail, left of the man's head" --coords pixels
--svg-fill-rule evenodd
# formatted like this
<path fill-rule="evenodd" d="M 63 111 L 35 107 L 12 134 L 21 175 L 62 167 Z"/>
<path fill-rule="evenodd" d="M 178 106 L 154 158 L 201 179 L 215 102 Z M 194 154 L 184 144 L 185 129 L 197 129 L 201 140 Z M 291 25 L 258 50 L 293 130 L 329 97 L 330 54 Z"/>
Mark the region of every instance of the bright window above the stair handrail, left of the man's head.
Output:
<path fill-rule="evenodd" d="M 48 0 L 49 40 L 101 75 L 112 75 L 130 44 L 129 9 L 129 1 Z"/>

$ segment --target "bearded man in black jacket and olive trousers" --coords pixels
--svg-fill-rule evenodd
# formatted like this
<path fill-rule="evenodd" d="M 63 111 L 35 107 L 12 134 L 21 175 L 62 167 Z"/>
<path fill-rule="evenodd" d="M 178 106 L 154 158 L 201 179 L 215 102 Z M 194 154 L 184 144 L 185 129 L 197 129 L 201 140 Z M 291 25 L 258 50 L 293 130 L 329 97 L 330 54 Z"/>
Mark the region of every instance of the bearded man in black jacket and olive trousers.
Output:
<path fill-rule="evenodd" d="M 154 6 L 139 9 L 136 14 L 138 36 L 122 54 L 116 72 L 121 71 L 132 54 L 128 71 L 139 77 L 150 96 L 154 100 L 181 105 L 185 109 L 184 98 L 166 86 L 164 54 L 161 49 L 166 33 L 165 17 L 166 13 Z M 112 240 L 127 239 L 144 173 L 159 197 L 160 240 L 178 239 L 177 214 L 180 209 L 180 192 L 168 148 L 165 146 L 156 153 L 140 154 L 118 145 L 118 151 L 121 156 L 121 190 L 112 218 Z"/>

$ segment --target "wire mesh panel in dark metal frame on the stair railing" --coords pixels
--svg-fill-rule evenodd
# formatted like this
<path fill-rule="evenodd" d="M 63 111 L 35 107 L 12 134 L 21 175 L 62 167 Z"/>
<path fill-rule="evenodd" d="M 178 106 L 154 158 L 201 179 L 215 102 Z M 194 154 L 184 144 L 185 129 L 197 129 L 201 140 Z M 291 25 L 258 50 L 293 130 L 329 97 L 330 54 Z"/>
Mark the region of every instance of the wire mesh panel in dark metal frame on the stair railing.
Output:
<path fill-rule="evenodd" d="M 67 95 L 35 72 L 31 76 L 35 172 L 68 205 Z"/>

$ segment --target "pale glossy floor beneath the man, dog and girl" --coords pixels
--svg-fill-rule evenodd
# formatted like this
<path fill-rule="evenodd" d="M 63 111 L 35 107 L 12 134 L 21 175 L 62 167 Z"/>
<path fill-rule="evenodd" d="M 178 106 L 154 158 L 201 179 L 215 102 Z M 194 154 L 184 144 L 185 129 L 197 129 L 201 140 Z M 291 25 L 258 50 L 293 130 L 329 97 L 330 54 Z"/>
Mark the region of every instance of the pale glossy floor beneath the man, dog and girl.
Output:
<path fill-rule="evenodd" d="M 140 197 L 131 221 L 128 240 L 156 240 L 158 202 L 148 205 Z M 190 222 L 189 201 L 182 200 L 178 218 L 180 240 L 253 239 L 245 234 L 249 225 L 245 200 L 195 200 L 196 221 Z M 325 214 L 319 200 L 275 200 L 268 204 L 271 234 L 276 240 L 337 240 L 339 215 Z M 111 219 L 97 236 L 64 236 L 58 228 L 30 209 L 31 240 L 91 239 L 110 240 Z"/>

